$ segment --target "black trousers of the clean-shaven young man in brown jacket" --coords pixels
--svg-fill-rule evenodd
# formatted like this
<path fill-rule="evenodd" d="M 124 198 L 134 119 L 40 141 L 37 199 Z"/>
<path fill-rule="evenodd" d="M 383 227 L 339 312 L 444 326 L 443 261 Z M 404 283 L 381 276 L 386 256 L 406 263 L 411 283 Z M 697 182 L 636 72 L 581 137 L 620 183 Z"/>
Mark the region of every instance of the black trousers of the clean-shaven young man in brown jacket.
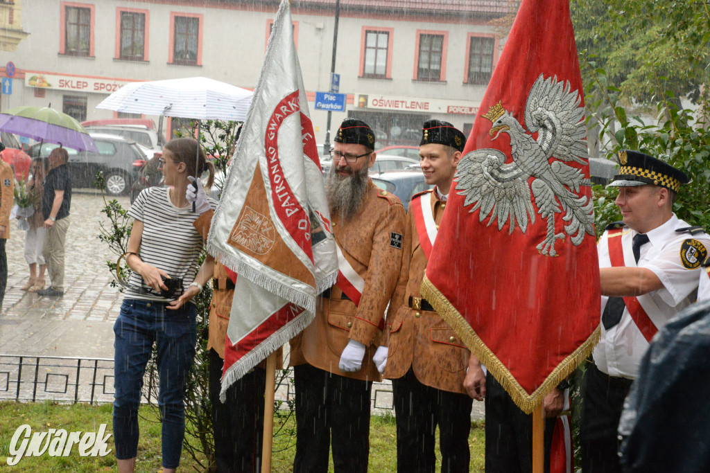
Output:
<path fill-rule="evenodd" d="M 471 399 L 419 382 L 413 369 L 392 380 L 397 415 L 397 471 L 434 472 L 435 433 L 439 425 L 442 472 L 468 472 L 471 452 Z"/>

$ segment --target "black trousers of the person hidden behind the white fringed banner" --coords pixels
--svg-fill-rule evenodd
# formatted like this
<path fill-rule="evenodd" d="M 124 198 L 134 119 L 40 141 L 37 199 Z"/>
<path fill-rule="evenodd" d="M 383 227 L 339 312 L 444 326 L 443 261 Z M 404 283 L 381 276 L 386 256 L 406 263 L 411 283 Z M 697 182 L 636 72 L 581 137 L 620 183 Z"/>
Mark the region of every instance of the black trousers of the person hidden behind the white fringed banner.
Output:
<path fill-rule="evenodd" d="M 219 401 L 224 360 L 209 350 L 209 396 L 217 472 L 261 472 L 266 371 L 254 368 L 226 391 Z"/>

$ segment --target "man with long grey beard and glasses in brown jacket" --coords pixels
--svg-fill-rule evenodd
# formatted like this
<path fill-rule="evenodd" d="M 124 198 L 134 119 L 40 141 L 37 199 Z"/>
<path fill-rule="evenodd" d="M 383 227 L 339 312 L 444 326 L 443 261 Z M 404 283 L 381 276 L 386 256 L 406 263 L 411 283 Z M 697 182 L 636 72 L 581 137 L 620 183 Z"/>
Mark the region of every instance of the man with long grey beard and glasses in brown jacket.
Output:
<path fill-rule="evenodd" d="M 336 472 L 367 471 L 370 393 L 385 359 L 378 345 L 402 262 L 404 207 L 368 179 L 375 134 L 346 118 L 334 142 L 326 192 L 339 274 L 318 299 L 315 320 L 291 343 L 294 472 L 327 472 L 331 438 Z"/>

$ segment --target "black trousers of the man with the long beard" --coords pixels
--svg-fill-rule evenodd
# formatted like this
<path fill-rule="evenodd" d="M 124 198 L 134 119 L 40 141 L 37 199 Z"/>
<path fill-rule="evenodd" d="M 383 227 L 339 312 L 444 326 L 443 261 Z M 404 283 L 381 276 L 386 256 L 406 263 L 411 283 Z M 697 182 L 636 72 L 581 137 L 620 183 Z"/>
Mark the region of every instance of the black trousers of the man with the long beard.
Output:
<path fill-rule="evenodd" d="M 336 472 L 367 472 L 372 382 L 311 365 L 293 368 L 296 401 L 295 473 L 328 471 L 332 438 Z"/>

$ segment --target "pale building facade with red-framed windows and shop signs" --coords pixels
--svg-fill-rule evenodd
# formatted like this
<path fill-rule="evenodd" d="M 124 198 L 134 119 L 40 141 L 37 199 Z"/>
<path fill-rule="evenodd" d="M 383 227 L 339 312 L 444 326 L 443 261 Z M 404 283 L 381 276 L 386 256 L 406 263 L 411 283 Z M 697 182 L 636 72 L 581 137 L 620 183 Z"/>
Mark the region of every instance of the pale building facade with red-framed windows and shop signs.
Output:
<path fill-rule="evenodd" d="M 278 1 L 33 0 L 12 4 L 14 50 L 0 50 L 10 88 L 0 107 L 51 104 L 80 121 L 118 116 L 95 108 L 132 81 L 203 76 L 256 86 Z M 316 130 L 325 138 L 336 0 L 293 0 L 293 32 Z M 19 16 L 21 13 L 21 17 Z M 427 118 L 470 130 L 503 38 L 495 0 L 340 0 L 335 72 L 346 116 L 376 130 L 378 146 L 417 145 Z M 27 34 L 28 33 L 28 34 Z M 8 92 L 10 92 L 8 94 Z M 155 117 L 148 117 L 155 118 Z"/>

